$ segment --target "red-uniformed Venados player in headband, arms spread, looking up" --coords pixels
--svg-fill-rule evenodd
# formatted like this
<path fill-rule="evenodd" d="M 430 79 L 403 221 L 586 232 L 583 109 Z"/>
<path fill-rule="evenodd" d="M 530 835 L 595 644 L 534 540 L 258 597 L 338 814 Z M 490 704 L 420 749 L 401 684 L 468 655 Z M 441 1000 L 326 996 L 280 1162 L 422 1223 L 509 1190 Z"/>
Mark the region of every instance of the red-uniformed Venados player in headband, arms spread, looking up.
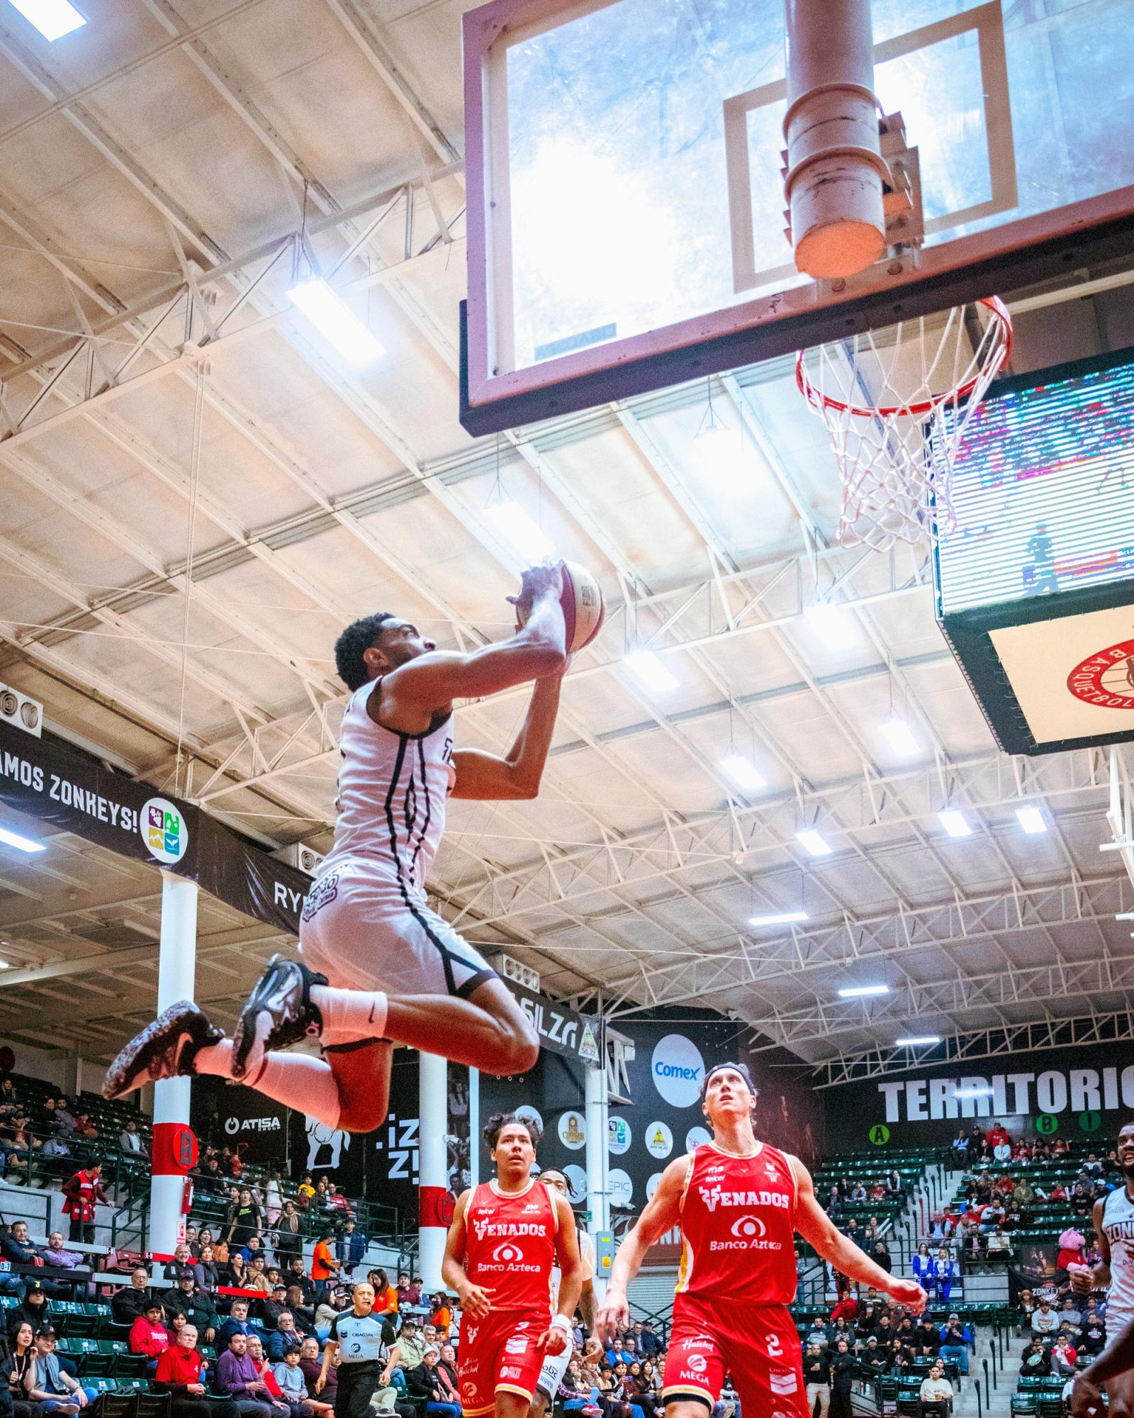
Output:
<path fill-rule="evenodd" d="M 608 1340 L 629 1323 L 627 1286 L 653 1242 L 680 1225 L 682 1261 L 662 1398 L 666 1418 L 704 1418 L 726 1370 L 746 1414 L 811 1418 L 795 1299 L 795 1232 L 852 1279 L 889 1292 L 913 1313 L 926 1307 L 916 1280 L 887 1275 L 839 1232 L 815 1200 L 811 1174 L 757 1141 L 756 1088 L 740 1064 L 704 1076 L 702 1110 L 713 1141 L 672 1161 L 622 1242 L 598 1310 Z"/>

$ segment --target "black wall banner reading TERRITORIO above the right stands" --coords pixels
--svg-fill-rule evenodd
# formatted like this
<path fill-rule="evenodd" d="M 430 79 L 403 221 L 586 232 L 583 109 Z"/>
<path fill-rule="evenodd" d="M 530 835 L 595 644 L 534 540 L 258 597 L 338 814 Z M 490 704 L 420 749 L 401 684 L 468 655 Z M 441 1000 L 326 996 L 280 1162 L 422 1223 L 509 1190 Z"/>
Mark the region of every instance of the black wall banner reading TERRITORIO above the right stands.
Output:
<path fill-rule="evenodd" d="M 1012 1137 L 1114 1146 L 1134 1119 L 1130 1044 L 1011 1054 L 824 1089 L 828 1141 L 846 1151 L 948 1146 L 1001 1122 Z"/>

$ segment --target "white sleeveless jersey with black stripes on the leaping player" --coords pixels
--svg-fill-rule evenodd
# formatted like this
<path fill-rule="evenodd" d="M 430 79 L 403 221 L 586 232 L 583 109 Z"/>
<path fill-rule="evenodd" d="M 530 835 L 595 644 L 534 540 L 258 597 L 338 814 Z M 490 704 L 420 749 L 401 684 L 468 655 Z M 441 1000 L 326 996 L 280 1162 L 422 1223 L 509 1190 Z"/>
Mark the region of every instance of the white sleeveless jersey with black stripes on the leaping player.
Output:
<path fill-rule="evenodd" d="M 350 696 L 339 733 L 335 847 L 322 873 L 346 856 L 388 862 L 398 882 L 421 893 L 445 831 L 452 766 L 452 715 L 425 733 L 395 733 L 366 710 L 378 681 Z"/>

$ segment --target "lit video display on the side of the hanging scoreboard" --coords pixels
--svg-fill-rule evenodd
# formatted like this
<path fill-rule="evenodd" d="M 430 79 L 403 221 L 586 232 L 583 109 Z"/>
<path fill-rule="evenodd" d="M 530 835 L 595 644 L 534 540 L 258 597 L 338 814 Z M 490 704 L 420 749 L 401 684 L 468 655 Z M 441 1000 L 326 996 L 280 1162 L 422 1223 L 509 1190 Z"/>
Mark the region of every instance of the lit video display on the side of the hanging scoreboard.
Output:
<path fill-rule="evenodd" d="M 954 469 L 937 545 L 945 614 L 1134 576 L 1134 353 L 991 393 Z"/>

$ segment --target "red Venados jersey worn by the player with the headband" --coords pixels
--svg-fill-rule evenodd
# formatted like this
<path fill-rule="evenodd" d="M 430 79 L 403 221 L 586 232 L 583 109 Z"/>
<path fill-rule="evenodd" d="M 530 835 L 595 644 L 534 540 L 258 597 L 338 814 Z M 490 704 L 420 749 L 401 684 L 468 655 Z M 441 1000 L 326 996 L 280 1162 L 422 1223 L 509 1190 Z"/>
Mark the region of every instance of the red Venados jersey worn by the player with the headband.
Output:
<path fill-rule="evenodd" d="M 682 1193 L 678 1295 L 791 1305 L 795 1197 L 791 1166 L 775 1147 L 761 1143 L 748 1157 L 697 1147 Z"/>

